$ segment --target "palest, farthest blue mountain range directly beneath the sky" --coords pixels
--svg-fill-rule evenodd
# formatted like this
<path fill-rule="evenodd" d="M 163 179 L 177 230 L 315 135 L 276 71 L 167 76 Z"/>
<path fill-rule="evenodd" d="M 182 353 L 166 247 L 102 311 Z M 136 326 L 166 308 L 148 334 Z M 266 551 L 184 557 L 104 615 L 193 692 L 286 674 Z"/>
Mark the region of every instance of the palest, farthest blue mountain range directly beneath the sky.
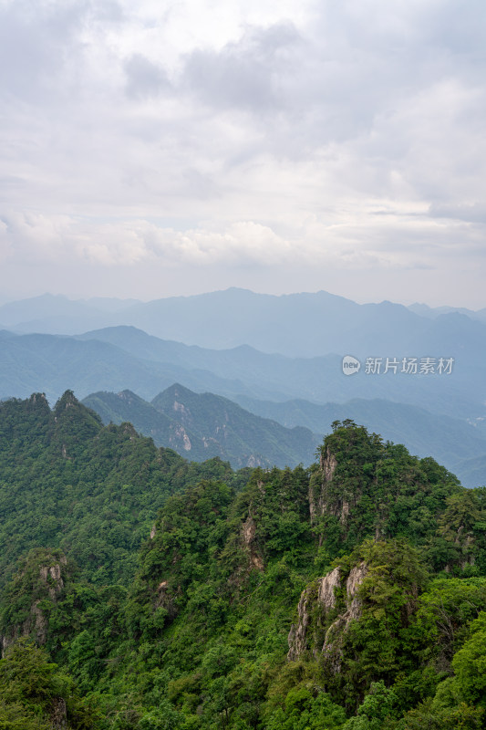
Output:
<path fill-rule="evenodd" d="M 346 352 L 361 357 L 407 354 L 418 340 L 421 344 L 421 339 L 433 339 L 438 319 L 445 318 L 447 325 L 458 316 L 473 322 L 478 336 L 486 331 L 486 310 L 407 308 L 388 301 L 360 305 L 326 291 L 276 297 L 233 287 L 150 302 L 102 297 L 72 301 L 44 295 L 0 307 L 1 326 L 19 333 L 73 335 L 131 325 L 161 339 L 206 349 L 246 344 L 267 353 L 305 358 Z M 416 354 L 427 357 L 430 353 Z"/>

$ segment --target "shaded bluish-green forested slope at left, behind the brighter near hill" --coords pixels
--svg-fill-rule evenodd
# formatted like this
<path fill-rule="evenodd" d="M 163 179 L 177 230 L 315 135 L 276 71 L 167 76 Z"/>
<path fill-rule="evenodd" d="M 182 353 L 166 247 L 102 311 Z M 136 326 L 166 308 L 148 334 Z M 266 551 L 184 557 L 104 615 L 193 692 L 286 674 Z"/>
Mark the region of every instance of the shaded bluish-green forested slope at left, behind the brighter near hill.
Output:
<path fill-rule="evenodd" d="M 190 464 L 130 423 L 104 427 L 67 391 L 0 403 L 0 584 L 31 547 L 62 548 L 89 579 L 131 578 L 141 540 L 167 497 L 229 464 Z"/>

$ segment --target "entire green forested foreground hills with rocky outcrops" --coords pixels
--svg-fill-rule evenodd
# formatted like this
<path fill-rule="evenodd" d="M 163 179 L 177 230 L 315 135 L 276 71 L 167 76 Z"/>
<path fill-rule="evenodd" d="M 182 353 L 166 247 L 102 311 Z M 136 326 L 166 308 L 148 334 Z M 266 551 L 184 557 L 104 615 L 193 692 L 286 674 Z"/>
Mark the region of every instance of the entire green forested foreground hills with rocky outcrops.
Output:
<path fill-rule="evenodd" d="M 485 502 L 352 421 L 233 472 L 5 401 L 0 727 L 484 728 Z"/>

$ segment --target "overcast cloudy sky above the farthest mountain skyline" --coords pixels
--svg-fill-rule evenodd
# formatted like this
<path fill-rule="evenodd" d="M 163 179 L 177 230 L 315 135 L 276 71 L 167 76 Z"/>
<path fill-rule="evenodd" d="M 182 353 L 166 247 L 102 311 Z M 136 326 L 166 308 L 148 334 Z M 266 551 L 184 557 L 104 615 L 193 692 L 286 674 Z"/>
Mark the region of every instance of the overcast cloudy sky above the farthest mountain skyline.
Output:
<path fill-rule="evenodd" d="M 0 0 L 0 297 L 486 307 L 484 0 Z"/>

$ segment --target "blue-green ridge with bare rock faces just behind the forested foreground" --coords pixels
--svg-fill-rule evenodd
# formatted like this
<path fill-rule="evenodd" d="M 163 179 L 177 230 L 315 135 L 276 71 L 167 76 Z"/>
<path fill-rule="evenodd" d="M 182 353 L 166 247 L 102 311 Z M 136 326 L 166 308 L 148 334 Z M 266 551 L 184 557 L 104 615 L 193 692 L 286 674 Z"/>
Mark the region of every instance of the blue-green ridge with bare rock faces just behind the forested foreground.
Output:
<path fill-rule="evenodd" d="M 92 393 L 83 404 L 107 424 L 133 423 L 157 446 L 169 447 L 187 459 L 202 462 L 219 456 L 233 468 L 306 464 L 320 443 L 307 428 L 285 428 L 226 398 L 194 393 L 178 383 L 151 403 L 122 391 Z"/>

